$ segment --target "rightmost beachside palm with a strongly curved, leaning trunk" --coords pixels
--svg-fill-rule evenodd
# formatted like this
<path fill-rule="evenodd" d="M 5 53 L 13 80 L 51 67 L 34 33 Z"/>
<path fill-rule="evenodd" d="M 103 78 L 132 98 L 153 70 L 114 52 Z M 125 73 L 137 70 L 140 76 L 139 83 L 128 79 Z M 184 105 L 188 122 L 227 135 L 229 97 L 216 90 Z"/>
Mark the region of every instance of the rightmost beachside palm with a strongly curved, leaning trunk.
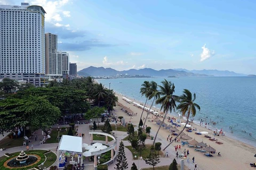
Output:
<path fill-rule="evenodd" d="M 184 129 L 186 128 L 186 125 L 187 125 L 187 123 L 188 123 L 188 119 L 189 119 L 189 116 L 190 116 L 190 114 L 192 114 L 192 116 L 194 117 L 195 115 L 196 115 L 196 108 L 200 111 L 200 106 L 199 105 L 197 105 L 196 103 L 194 103 L 194 101 L 196 100 L 196 94 L 194 93 L 194 95 L 193 95 L 194 97 L 193 97 L 193 99 L 192 99 L 192 94 L 191 94 L 191 92 L 189 91 L 189 90 L 187 90 L 187 89 L 184 89 L 183 90 L 183 95 L 181 95 L 180 97 L 179 97 L 179 106 L 177 107 L 178 109 L 180 109 L 180 111 L 181 111 L 181 113 L 182 113 L 182 116 L 185 116 L 186 114 L 186 116 L 187 116 L 187 121 L 186 121 L 186 124 L 185 124 L 185 126 L 184 126 L 184 128 L 182 129 L 182 131 L 179 133 L 179 135 L 184 131 Z M 175 140 L 175 139 L 177 139 L 178 137 L 179 137 L 179 135 L 177 136 L 177 137 L 175 137 L 174 139 L 173 139 L 173 141 Z M 172 142 L 173 142 L 172 141 Z M 172 142 L 170 142 L 165 148 L 164 148 L 164 150 L 167 148 L 167 147 L 169 147 L 170 145 L 171 145 L 171 143 Z"/>

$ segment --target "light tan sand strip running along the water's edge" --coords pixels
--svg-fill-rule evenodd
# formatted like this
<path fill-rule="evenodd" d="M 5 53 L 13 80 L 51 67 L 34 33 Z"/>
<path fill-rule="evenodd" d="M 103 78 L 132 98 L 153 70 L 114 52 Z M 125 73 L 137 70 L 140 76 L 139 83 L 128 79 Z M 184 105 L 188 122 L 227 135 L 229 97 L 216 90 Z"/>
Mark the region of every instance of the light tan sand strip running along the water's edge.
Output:
<path fill-rule="evenodd" d="M 123 104 L 126 107 L 129 107 L 133 112 L 134 111 L 138 112 L 138 114 L 140 116 L 142 109 L 133 106 L 133 104 L 127 103 L 122 98 L 126 97 L 132 101 L 137 102 L 137 103 L 141 103 L 140 101 L 131 99 L 130 97 L 119 94 L 118 92 L 116 92 L 116 95 L 118 96 L 119 103 Z M 150 106 L 146 105 L 146 107 L 150 107 Z M 158 108 L 152 107 L 151 109 L 154 109 L 159 112 Z M 143 115 L 146 115 L 146 113 L 147 113 L 146 111 L 143 112 Z M 134 123 L 139 122 L 139 120 L 138 120 L 139 116 L 133 117 L 132 122 L 134 122 Z M 177 117 L 173 114 L 169 114 L 168 116 Z M 151 114 L 149 115 L 149 117 L 151 117 Z M 183 120 L 183 119 L 181 119 L 181 120 Z M 126 122 L 129 122 L 129 120 L 126 120 Z M 154 130 L 154 131 L 158 128 L 158 126 L 155 124 L 155 122 L 146 121 L 146 124 L 150 125 L 152 130 Z M 209 132 L 209 134 L 213 134 L 213 130 L 204 128 L 204 126 L 199 126 L 196 124 L 196 122 L 193 123 L 193 127 L 197 128 L 199 130 L 199 132 L 206 131 L 206 132 Z M 208 158 L 208 157 L 205 157 L 202 153 L 194 151 L 193 148 L 189 148 L 190 149 L 190 157 L 191 157 L 191 155 L 195 156 L 198 166 L 201 167 L 202 169 L 212 169 L 212 170 L 214 170 L 214 169 L 249 169 L 250 168 L 249 164 L 255 162 L 255 158 L 254 158 L 254 154 L 256 151 L 255 147 L 253 147 L 247 143 L 230 138 L 225 135 L 225 136 L 219 136 L 219 137 L 216 136 L 215 137 L 216 139 L 218 139 L 218 141 L 223 142 L 223 145 L 218 145 L 217 143 L 215 143 L 213 141 L 207 140 L 207 138 L 205 138 L 204 135 L 196 135 L 194 132 L 188 133 L 186 131 L 185 131 L 185 133 L 187 133 L 190 137 L 196 139 L 198 142 L 201 142 L 202 140 L 204 142 L 207 142 L 207 145 L 211 145 L 213 148 L 216 149 L 217 152 L 219 152 L 219 151 L 221 152 L 222 157 L 217 157 L 217 155 L 215 154 L 214 157 Z M 168 134 L 170 134 L 169 131 L 161 129 L 159 131 L 158 137 L 161 136 L 161 138 L 163 140 L 166 140 L 166 136 Z M 177 145 L 177 143 L 173 142 L 171 146 L 174 147 L 174 145 Z M 179 145 L 180 145 L 180 143 L 179 143 Z M 167 148 L 167 149 L 171 149 L 172 148 L 171 146 L 169 146 L 169 148 Z M 165 146 L 163 146 L 162 148 L 164 148 L 164 147 Z M 185 146 L 183 148 L 187 149 L 188 147 Z M 191 160 L 191 158 L 190 158 L 190 160 Z M 218 164 L 218 166 L 215 166 L 216 163 Z M 214 167 L 209 166 L 209 165 L 214 165 Z M 230 165 L 232 165 L 233 168 L 231 168 Z M 245 167 L 247 167 L 247 168 L 245 168 Z"/>

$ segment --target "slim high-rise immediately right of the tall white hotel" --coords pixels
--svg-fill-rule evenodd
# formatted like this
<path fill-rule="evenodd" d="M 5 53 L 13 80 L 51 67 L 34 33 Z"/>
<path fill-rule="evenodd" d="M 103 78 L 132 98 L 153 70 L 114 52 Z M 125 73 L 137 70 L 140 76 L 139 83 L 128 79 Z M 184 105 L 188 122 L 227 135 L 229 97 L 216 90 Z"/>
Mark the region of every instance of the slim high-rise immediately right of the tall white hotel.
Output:
<path fill-rule="evenodd" d="M 57 75 L 58 62 L 58 36 L 52 33 L 45 33 L 45 74 Z M 61 74 L 59 74 L 61 75 Z"/>

